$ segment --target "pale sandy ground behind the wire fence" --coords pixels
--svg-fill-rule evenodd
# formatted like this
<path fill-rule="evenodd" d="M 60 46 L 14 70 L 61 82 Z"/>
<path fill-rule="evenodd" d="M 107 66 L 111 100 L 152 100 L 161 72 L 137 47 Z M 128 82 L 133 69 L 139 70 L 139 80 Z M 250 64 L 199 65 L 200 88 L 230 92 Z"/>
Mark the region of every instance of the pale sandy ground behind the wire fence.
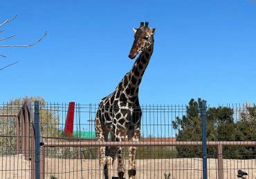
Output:
<path fill-rule="evenodd" d="M 1 156 L 1 159 L 0 178 L 30 178 L 30 161 L 23 156 Z M 165 178 L 164 173 L 169 172 L 173 179 L 202 178 L 201 158 L 136 160 L 136 165 L 136 178 Z M 208 166 L 208 178 L 218 178 L 217 159 L 208 159 Z M 115 161 L 114 176 L 117 176 L 116 168 Z M 125 168 L 128 169 L 128 160 L 125 160 Z M 246 171 L 247 178 L 256 178 L 256 160 L 223 160 L 223 178 L 237 178 L 238 169 Z M 99 172 L 98 160 L 46 158 L 46 178 L 99 178 Z"/>

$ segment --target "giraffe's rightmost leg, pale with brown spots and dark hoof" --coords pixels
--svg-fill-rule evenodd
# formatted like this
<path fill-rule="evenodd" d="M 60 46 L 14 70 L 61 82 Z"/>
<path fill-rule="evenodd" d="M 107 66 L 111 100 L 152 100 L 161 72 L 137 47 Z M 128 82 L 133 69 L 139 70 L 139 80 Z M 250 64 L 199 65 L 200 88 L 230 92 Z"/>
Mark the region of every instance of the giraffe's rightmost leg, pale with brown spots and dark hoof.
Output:
<path fill-rule="evenodd" d="M 140 129 L 137 128 L 134 137 L 131 139 L 133 142 L 138 142 L 140 138 Z M 136 176 L 136 150 L 137 147 L 129 147 L 129 170 L 128 170 L 128 176 L 129 179 L 133 179 Z"/>

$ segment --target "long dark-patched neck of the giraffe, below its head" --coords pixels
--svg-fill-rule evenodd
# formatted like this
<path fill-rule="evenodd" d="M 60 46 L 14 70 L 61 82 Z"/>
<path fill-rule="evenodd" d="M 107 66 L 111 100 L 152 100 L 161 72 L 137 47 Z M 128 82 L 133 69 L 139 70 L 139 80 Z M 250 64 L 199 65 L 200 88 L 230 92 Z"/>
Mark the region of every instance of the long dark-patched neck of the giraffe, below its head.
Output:
<path fill-rule="evenodd" d="M 123 81 L 123 89 L 130 102 L 136 101 L 138 98 L 138 89 L 143 78 L 143 74 L 149 64 L 153 54 L 154 46 L 150 45 L 136 59 L 131 71 L 125 75 Z"/>

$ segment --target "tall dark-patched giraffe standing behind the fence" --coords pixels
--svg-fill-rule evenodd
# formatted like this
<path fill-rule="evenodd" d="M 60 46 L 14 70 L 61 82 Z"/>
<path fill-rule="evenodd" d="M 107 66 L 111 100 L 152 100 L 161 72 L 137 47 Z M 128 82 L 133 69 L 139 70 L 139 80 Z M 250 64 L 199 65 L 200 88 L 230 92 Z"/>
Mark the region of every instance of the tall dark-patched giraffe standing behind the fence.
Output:
<path fill-rule="evenodd" d="M 134 43 L 129 52 L 129 58 L 134 59 L 139 54 L 131 70 L 125 74 L 116 90 L 102 98 L 95 116 L 95 133 L 98 141 L 121 142 L 124 138 L 138 141 L 140 138 L 140 119 L 142 111 L 138 100 L 138 90 L 143 74 L 149 64 L 154 50 L 155 28 L 149 28 L 149 23 L 140 23 L 134 28 Z M 118 178 L 125 176 L 125 164 L 122 158 L 123 147 L 100 147 L 100 179 L 112 178 L 113 160 L 118 156 Z M 129 147 L 129 178 L 136 176 L 136 147 Z"/>

